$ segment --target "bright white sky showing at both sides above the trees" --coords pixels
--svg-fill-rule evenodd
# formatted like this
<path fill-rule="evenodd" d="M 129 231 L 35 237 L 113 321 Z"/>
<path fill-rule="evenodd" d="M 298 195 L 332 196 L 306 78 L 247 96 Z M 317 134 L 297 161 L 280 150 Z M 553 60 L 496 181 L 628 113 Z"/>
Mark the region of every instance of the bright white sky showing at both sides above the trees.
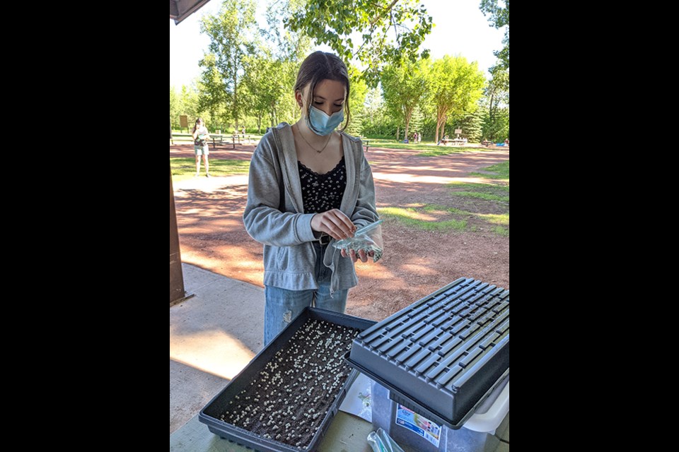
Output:
<path fill-rule="evenodd" d="M 436 24 L 423 48 L 429 49 L 434 59 L 460 54 L 468 61 L 477 61 L 488 78 L 487 70 L 496 61 L 493 51 L 502 48 L 504 29 L 490 26 L 479 9 L 480 3 L 480 0 L 422 0 Z M 263 9 L 266 2 L 260 0 L 259 4 Z M 170 84 L 175 87 L 188 85 L 199 76 L 198 61 L 209 44 L 209 39 L 200 34 L 199 18 L 205 13 L 216 13 L 220 5 L 221 1 L 211 0 L 179 25 L 170 20 Z"/>

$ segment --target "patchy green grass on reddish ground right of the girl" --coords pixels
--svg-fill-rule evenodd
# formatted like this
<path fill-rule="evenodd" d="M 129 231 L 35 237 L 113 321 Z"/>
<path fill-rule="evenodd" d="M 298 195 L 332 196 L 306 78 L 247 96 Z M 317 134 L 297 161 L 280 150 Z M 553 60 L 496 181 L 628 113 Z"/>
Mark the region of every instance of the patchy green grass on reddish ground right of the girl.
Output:
<path fill-rule="evenodd" d="M 470 173 L 489 183 L 454 182 L 441 204 L 378 208 L 384 218 L 426 231 L 490 231 L 509 237 L 509 161 Z"/>

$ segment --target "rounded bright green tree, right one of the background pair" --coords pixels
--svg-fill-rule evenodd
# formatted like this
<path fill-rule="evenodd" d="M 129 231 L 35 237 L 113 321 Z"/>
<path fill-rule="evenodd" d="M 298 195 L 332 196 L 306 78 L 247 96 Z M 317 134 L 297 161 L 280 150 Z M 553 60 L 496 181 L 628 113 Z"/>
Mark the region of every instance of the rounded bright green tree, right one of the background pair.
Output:
<path fill-rule="evenodd" d="M 450 115 L 471 112 L 482 95 L 485 82 L 476 61 L 468 63 L 465 57 L 449 57 L 434 61 L 430 66 L 429 84 L 431 103 L 436 107 L 436 136 L 445 135 L 446 121 Z"/>

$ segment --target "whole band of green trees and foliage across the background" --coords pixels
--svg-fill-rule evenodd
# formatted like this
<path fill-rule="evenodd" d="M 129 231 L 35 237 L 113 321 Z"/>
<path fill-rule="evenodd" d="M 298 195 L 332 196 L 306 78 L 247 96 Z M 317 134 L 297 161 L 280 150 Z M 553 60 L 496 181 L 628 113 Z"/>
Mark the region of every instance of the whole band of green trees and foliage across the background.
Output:
<path fill-rule="evenodd" d="M 509 25 L 509 2 L 502 8 L 498 1 L 483 0 L 482 10 L 496 26 Z M 320 16 L 323 21 L 313 23 Z M 210 39 L 199 63 L 202 75 L 181 93 L 170 86 L 175 128 L 179 114 L 192 120 L 201 114 L 212 130 L 240 129 L 240 123 L 263 132 L 267 125 L 296 121 L 292 88 L 315 39 L 347 62 L 349 133 L 402 139 L 412 129 L 438 141 L 446 126 L 462 126 L 468 138 L 509 136 L 509 69 L 499 60 L 486 83 L 475 61 L 422 58 L 426 50 L 418 49 L 431 17 L 415 1 L 270 0 L 266 19 L 260 28 L 254 0 L 226 0 L 219 13 L 202 19 Z M 357 60 L 366 67 L 356 68 Z"/>

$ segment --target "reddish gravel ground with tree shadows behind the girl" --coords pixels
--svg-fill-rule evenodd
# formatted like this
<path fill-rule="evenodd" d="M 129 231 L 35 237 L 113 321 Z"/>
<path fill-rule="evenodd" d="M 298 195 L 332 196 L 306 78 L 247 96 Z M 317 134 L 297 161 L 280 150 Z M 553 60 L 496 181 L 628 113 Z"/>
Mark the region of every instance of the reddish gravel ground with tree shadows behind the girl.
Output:
<path fill-rule="evenodd" d="M 250 160 L 254 146 L 219 148 L 211 158 Z M 445 184 L 475 182 L 469 172 L 509 160 L 509 151 L 417 157 L 419 151 L 370 148 L 379 207 L 440 204 Z M 193 157 L 192 145 L 171 145 L 170 157 Z M 262 245 L 243 227 L 247 176 L 175 182 L 182 261 L 262 286 Z M 490 231 L 426 232 L 393 218 L 383 224 L 385 253 L 357 263 L 359 285 L 347 314 L 381 320 L 462 276 L 509 288 L 509 237 Z"/>

